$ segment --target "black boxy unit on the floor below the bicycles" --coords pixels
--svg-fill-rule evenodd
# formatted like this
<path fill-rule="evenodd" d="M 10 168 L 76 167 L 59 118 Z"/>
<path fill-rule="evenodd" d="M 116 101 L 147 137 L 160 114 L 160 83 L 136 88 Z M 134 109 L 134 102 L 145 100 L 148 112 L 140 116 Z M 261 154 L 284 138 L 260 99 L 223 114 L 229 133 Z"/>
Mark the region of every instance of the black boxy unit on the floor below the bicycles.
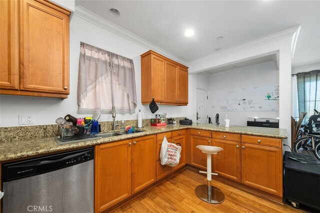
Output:
<path fill-rule="evenodd" d="M 285 151 L 284 198 L 298 208 L 299 203 L 320 210 L 320 164 L 313 155 Z"/>

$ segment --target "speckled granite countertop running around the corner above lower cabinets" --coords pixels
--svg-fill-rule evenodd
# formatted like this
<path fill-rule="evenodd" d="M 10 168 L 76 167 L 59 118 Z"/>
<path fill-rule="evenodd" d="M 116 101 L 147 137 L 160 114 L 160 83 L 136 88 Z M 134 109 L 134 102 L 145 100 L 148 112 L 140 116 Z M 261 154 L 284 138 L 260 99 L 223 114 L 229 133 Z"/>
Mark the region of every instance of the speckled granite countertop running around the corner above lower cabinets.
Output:
<path fill-rule="evenodd" d="M 286 129 L 283 128 L 266 128 L 254 126 L 237 126 L 231 125 L 230 127 L 216 126 L 215 124 L 198 124 L 192 125 L 179 125 L 168 124 L 166 126 L 147 126 L 142 129 L 144 132 L 134 134 L 124 134 L 113 137 L 104 137 L 95 140 L 69 143 L 64 145 L 57 145 L 53 137 L 36 138 L 29 140 L 7 141 L 0 143 L 0 161 L 19 159 L 23 157 L 31 157 L 40 154 L 49 154 L 58 151 L 66 151 L 70 149 L 94 146 L 96 144 L 112 142 L 117 140 L 129 139 L 133 137 L 140 137 L 149 134 L 155 134 L 165 131 L 178 130 L 183 128 L 195 128 L 202 130 L 222 131 L 238 134 L 248 134 L 256 136 L 266 136 L 275 138 L 286 138 Z"/>

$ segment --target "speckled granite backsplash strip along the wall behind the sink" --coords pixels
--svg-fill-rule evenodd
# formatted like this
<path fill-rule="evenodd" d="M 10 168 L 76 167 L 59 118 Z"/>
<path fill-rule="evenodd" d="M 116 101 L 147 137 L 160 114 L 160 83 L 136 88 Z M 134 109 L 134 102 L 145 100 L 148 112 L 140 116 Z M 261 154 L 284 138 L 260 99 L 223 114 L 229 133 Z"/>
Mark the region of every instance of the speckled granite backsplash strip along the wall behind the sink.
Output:
<path fill-rule="evenodd" d="M 178 122 L 184 117 L 174 117 Z M 150 119 L 142 119 L 142 128 L 144 126 L 150 126 Z M 167 118 L 165 118 L 167 122 Z M 112 130 L 112 121 L 100 121 L 101 132 L 107 132 Z M 118 121 L 119 126 L 117 130 L 121 127 L 121 121 Z M 124 126 L 137 126 L 137 120 L 124 120 Z M 31 125 L 31 126 L 12 126 L 12 127 L 0 127 L 0 142 L 12 141 L 12 140 L 28 140 L 41 137 L 53 137 L 58 135 L 58 125 L 48 124 L 48 125 Z"/>

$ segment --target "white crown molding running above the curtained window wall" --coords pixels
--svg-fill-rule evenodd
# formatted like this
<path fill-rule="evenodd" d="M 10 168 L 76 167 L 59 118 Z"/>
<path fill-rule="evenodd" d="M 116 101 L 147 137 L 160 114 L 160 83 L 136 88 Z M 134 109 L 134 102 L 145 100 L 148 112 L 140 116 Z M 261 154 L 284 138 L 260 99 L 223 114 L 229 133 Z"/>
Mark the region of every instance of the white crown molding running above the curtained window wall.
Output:
<path fill-rule="evenodd" d="M 147 40 L 144 40 L 143 38 L 133 34 L 132 32 L 129 32 L 128 30 L 102 18 L 101 16 L 96 15 L 95 13 L 91 12 L 90 10 L 85 9 L 82 6 L 76 6 L 74 15 L 81 17 L 97 26 L 100 26 L 108 31 L 111 31 L 125 39 L 128 39 L 142 47 L 145 47 L 147 49 L 151 49 L 157 53 L 160 53 L 172 60 L 175 60 L 181 64 L 186 64 L 186 61 L 182 60 L 181 58 L 165 51 L 164 49 L 150 43 Z"/>

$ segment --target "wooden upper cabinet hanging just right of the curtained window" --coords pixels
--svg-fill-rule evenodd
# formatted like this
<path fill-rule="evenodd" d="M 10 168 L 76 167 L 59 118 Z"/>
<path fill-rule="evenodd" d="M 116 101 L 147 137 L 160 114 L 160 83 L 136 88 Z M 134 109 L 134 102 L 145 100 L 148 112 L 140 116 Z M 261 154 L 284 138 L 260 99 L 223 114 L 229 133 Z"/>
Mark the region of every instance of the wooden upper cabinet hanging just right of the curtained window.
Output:
<path fill-rule="evenodd" d="M 152 50 L 141 54 L 141 102 L 187 105 L 188 67 Z"/>

